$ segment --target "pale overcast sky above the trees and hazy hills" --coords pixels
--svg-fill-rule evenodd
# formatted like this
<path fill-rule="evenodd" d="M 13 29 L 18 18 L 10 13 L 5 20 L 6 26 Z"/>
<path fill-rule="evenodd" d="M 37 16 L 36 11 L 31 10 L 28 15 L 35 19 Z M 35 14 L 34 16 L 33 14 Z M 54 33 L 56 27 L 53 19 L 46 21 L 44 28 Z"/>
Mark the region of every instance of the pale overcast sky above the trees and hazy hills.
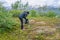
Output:
<path fill-rule="evenodd" d="M 0 0 L 0 1 L 6 2 L 4 4 L 5 6 L 11 6 L 12 3 L 15 3 L 18 0 Z M 30 6 L 36 6 L 36 5 L 60 6 L 60 0 L 21 0 L 21 2 L 23 4 L 28 2 Z"/>

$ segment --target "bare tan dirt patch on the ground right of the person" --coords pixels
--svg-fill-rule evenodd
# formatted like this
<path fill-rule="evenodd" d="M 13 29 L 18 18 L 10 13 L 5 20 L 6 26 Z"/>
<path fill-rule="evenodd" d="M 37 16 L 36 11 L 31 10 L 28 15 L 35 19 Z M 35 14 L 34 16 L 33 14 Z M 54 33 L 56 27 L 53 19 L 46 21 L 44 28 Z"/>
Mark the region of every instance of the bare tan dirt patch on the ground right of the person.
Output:
<path fill-rule="evenodd" d="M 43 35 L 46 36 L 46 39 L 59 40 L 59 38 L 58 38 L 59 33 L 57 33 L 56 27 L 53 27 L 50 25 L 48 26 L 47 23 L 45 23 L 44 21 L 36 22 L 36 23 L 34 23 L 34 22 L 35 21 L 32 21 L 32 24 L 30 24 L 30 25 L 35 25 L 35 26 L 32 27 L 32 29 L 30 30 L 30 32 L 28 34 L 28 39 L 33 40 L 37 34 L 43 33 Z M 54 37 L 49 37 L 51 35 L 54 35 Z"/>

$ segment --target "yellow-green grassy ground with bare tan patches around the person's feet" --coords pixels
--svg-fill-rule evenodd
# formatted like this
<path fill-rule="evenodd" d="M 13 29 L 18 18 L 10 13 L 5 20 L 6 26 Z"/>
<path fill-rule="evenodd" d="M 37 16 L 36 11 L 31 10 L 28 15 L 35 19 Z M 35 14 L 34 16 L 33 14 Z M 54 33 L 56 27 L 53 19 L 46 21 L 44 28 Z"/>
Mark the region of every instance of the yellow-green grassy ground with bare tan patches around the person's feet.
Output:
<path fill-rule="evenodd" d="M 20 29 L 19 19 L 15 19 L 16 30 L 0 34 L 0 40 L 60 40 L 60 19 L 48 17 L 29 18 L 29 24 Z"/>

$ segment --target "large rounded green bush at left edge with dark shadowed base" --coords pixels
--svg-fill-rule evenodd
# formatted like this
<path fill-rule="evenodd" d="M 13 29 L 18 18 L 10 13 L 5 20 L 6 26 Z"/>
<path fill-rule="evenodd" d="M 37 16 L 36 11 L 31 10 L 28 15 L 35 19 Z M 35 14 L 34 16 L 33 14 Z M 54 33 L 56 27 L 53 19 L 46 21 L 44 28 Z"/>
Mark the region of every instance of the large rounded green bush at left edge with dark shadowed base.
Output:
<path fill-rule="evenodd" d="M 13 20 L 13 17 L 10 13 L 0 12 L 0 33 L 3 31 L 13 30 L 16 22 Z"/>

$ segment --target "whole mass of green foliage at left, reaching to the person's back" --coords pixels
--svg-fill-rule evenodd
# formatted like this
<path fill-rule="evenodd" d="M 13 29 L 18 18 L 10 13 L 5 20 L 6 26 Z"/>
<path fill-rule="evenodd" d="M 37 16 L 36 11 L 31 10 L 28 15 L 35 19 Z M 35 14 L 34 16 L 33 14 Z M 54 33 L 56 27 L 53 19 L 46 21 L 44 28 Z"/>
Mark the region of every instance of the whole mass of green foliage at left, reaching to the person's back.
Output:
<path fill-rule="evenodd" d="M 0 33 L 4 33 L 7 31 L 10 32 L 14 30 L 14 27 L 16 25 L 18 25 L 14 17 L 17 17 L 22 12 L 22 10 L 5 11 L 6 9 L 3 6 L 1 9 L 0 9 Z"/>

